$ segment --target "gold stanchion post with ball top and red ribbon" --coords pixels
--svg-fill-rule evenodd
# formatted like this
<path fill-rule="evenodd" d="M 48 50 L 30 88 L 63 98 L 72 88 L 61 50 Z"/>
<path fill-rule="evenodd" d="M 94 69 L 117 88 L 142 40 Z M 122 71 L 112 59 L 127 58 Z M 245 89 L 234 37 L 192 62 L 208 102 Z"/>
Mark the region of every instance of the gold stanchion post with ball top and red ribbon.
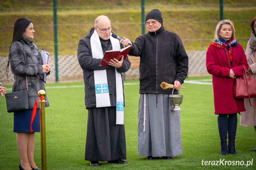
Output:
<path fill-rule="evenodd" d="M 44 98 L 46 93 L 44 90 L 39 90 L 37 94 L 40 98 Z M 45 106 L 44 106 L 44 103 L 47 101 L 39 100 L 38 102 L 40 103 L 40 120 L 41 120 L 41 164 L 42 164 L 42 170 L 46 170 Z"/>

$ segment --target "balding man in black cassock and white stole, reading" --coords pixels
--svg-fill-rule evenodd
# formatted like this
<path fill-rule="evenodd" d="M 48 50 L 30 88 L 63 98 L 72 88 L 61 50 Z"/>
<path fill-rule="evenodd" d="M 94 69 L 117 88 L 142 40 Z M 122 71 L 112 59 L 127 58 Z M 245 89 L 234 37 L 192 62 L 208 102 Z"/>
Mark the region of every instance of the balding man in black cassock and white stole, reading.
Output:
<path fill-rule="evenodd" d="M 105 51 L 120 50 L 119 40 L 111 36 L 111 22 L 106 16 L 95 19 L 95 25 L 78 43 L 77 57 L 83 69 L 85 107 L 88 109 L 85 160 L 90 166 L 98 161 L 127 163 L 124 129 L 124 93 L 122 73 L 131 62 L 126 56 L 99 66 Z"/>

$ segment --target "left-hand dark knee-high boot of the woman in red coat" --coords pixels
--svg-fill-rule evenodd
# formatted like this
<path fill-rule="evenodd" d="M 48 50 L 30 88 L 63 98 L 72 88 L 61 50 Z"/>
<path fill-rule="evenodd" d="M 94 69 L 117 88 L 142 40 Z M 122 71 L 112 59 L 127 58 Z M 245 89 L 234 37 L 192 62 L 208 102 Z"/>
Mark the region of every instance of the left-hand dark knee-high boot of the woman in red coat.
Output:
<path fill-rule="evenodd" d="M 220 149 L 222 155 L 228 155 L 227 133 L 228 133 L 228 118 L 220 118 L 218 116 L 218 128 L 220 135 Z"/>

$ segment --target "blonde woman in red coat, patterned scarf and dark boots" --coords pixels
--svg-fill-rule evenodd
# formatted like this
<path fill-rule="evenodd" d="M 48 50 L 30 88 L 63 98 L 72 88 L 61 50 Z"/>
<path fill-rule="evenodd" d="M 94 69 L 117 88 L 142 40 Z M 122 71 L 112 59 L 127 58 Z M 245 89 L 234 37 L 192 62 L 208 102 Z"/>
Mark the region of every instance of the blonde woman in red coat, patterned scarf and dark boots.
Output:
<path fill-rule="evenodd" d="M 212 75 L 215 114 L 218 114 L 221 154 L 236 154 L 235 137 L 237 113 L 245 111 L 244 99 L 234 98 L 236 76 L 243 76 L 243 66 L 249 67 L 244 49 L 235 39 L 235 28 L 230 20 L 216 26 L 214 41 L 206 53 L 206 68 Z M 228 146 L 227 146 L 228 133 Z"/>

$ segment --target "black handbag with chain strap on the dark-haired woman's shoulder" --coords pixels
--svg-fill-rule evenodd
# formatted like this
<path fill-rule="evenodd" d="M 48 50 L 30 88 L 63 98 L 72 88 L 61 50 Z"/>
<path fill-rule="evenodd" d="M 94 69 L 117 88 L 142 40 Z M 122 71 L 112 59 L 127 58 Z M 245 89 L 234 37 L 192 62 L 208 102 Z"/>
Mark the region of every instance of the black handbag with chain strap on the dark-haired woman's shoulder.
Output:
<path fill-rule="evenodd" d="M 23 46 L 22 46 L 23 47 Z M 23 47 L 25 56 L 24 56 L 24 61 L 26 65 L 26 51 Z M 7 86 L 7 79 L 8 79 L 8 70 L 9 70 L 9 60 L 7 63 L 7 68 L 6 68 L 6 85 Z M 22 110 L 28 110 L 29 105 L 28 105 L 28 79 L 26 76 L 26 85 L 27 85 L 27 90 L 20 90 L 20 91 L 14 91 L 11 93 L 6 93 L 5 94 L 5 99 L 6 99 L 6 106 L 7 106 L 7 112 L 12 113 L 14 111 L 22 111 Z"/>

